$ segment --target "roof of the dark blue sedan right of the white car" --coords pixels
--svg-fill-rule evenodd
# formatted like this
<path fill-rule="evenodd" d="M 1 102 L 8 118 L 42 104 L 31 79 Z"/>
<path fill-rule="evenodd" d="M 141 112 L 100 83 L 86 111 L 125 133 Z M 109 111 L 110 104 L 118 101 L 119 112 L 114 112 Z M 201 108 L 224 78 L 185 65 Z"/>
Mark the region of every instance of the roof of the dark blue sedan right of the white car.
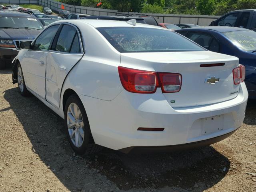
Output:
<path fill-rule="evenodd" d="M 194 30 L 212 30 L 216 32 L 230 32 L 230 31 L 244 31 L 249 30 L 246 28 L 240 28 L 240 27 L 226 27 L 226 26 L 206 26 L 206 27 L 193 27 L 193 28 L 186 28 L 186 29 L 180 29 L 178 31 L 194 31 Z"/>

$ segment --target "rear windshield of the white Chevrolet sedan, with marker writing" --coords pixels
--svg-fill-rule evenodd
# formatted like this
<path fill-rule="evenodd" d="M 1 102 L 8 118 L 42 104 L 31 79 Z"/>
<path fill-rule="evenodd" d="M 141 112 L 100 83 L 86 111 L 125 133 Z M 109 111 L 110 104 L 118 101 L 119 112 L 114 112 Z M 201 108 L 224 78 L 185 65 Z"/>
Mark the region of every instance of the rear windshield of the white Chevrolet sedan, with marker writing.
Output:
<path fill-rule="evenodd" d="M 119 52 L 204 51 L 175 32 L 144 27 L 102 27 L 98 31 Z"/>

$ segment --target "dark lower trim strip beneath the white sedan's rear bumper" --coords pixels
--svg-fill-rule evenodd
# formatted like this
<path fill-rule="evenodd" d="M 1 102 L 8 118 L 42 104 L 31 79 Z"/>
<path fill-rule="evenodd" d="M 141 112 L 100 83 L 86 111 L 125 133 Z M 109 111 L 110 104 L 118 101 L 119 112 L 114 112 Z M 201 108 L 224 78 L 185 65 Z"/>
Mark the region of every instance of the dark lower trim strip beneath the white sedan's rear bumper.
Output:
<path fill-rule="evenodd" d="M 198 142 L 192 142 L 192 143 L 186 143 L 186 144 L 180 144 L 180 145 L 170 145 L 170 146 L 133 146 L 133 147 L 123 148 L 118 151 L 123 153 L 152 153 L 152 152 L 158 153 L 158 152 L 174 152 L 174 151 L 189 150 L 193 148 L 211 145 L 221 140 L 224 140 L 228 138 L 230 135 L 232 135 L 234 132 L 236 132 L 236 130 L 218 137 L 214 137 L 214 138 L 210 138 L 210 139 L 206 139 Z"/>

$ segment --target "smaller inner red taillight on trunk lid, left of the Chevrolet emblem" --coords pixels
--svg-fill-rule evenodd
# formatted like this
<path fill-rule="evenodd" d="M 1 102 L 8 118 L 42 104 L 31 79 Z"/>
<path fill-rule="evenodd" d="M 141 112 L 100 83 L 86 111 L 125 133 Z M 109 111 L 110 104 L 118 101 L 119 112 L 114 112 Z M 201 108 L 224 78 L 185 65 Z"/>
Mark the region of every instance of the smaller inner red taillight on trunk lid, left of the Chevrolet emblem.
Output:
<path fill-rule="evenodd" d="M 160 84 L 163 93 L 179 92 L 182 83 L 182 76 L 178 73 L 159 72 Z"/>

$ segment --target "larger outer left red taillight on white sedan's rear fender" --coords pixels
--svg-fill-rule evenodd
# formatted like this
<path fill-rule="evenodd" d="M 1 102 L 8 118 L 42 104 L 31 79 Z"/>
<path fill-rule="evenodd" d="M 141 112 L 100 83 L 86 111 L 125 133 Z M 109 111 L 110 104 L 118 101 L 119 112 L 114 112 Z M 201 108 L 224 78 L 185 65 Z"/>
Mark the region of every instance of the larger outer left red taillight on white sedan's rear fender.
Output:
<path fill-rule="evenodd" d="M 118 72 L 122 86 L 133 93 L 154 93 L 156 92 L 156 72 L 136 70 L 118 66 Z"/>

